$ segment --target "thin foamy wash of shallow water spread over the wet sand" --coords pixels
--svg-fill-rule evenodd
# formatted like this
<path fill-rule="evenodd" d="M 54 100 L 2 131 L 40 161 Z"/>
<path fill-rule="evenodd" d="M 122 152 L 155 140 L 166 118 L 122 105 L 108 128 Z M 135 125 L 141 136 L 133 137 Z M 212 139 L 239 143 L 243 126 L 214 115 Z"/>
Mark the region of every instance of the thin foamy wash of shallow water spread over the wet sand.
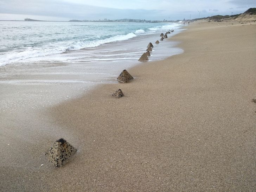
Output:
<path fill-rule="evenodd" d="M 177 29 L 172 35 L 179 32 Z M 58 59 L 51 62 L 51 59 L 46 59 L 0 67 L 0 89 L 4 90 L 1 92 L 0 113 L 13 114 L 53 106 L 79 97 L 98 84 L 117 83 L 115 78 L 124 66 L 130 68 L 140 63 L 138 58 L 145 52 L 148 41 L 158 38 L 155 35 L 138 35 L 128 40 L 64 54 L 66 58 L 81 58 L 77 62 L 58 62 Z M 152 52 L 150 60 L 178 54 L 182 50 L 174 47 L 175 44 L 162 42 L 161 46 Z M 88 58 L 88 55 L 91 57 Z"/>

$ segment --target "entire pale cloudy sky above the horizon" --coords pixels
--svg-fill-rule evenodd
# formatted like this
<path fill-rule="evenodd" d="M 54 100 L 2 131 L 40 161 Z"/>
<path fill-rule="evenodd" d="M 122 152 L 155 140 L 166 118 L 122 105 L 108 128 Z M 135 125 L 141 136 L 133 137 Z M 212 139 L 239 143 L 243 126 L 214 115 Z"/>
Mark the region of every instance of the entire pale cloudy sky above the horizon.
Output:
<path fill-rule="evenodd" d="M 183 20 L 231 15 L 256 0 L 0 0 L 0 20 Z"/>

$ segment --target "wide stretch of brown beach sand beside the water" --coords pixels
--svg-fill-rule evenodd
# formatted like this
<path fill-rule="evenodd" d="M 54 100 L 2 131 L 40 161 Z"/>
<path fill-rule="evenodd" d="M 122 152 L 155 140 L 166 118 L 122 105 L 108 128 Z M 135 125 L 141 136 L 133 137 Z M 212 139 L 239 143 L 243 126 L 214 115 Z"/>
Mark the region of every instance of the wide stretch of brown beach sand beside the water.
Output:
<path fill-rule="evenodd" d="M 41 128 L 50 124 L 52 133 L 28 131 L 37 142 L 12 148 L 23 155 L 9 164 L 2 147 L 1 189 L 254 191 L 256 25 L 185 28 L 168 38 L 184 53 L 142 62 L 127 69 L 134 77 L 129 83 L 100 85 L 27 117 Z M 124 94 L 119 99 L 111 96 L 117 89 Z M 54 168 L 44 153 L 59 137 L 78 151 Z"/>

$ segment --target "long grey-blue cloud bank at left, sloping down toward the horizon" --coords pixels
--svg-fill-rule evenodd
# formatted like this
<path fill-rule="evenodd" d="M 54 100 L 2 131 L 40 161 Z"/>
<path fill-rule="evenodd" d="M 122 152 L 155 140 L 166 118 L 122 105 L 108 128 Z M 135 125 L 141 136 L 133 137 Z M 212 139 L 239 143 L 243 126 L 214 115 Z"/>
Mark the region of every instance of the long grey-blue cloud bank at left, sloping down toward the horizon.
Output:
<path fill-rule="evenodd" d="M 84 4 L 73 4 L 62 1 L 28 1 L 21 4 L 19 0 L 10 0 L 8 3 L 0 1 L 1 13 L 29 14 L 70 19 L 121 19 L 121 18 L 162 18 L 162 12 L 145 9 L 116 9 Z"/>

